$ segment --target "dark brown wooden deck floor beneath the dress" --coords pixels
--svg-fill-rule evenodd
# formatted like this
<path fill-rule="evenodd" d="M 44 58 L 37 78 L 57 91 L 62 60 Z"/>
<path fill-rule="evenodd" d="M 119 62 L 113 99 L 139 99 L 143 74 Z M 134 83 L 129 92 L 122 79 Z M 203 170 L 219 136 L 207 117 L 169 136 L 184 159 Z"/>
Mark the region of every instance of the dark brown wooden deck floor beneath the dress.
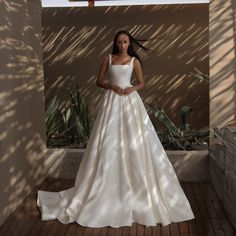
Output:
<path fill-rule="evenodd" d="M 88 228 L 77 223 L 61 224 L 57 220 L 41 221 L 36 206 L 37 189 L 60 191 L 73 186 L 71 180 L 47 179 L 44 184 L 26 198 L 24 204 L 0 227 L 1 236 L 235 236 L 231 223 L 227 219 L 224 208 L 217 198 L 216 192 L 209 183 L 181 182 L 188 197 L 196 219 L 172 223 L 162 227 L 145 227 L 133 223 L 132 227 L 121 228 Z"/>

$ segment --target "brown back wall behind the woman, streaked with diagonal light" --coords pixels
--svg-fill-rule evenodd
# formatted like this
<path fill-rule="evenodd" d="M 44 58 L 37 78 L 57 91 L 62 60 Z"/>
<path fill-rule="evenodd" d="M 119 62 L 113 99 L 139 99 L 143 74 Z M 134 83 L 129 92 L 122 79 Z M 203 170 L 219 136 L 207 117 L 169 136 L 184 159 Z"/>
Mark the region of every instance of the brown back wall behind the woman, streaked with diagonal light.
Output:
<path fill-rule="evenodd" d="M 192 125 L 209 123 L 209 85 L 189 75 L 194 67 L 208 74 L 208 4 L 148 5 L 94 8 L 45 8 L 42 34 L 46 106 L 78 82 L 91 112 L 97 111 L 101 89 L 96 87 L 99 65 L 111 53 L 113 37 L 125 28 L 153 49 L 141 53 L 145 88 L 143 100 L 163 107 L 179 122 L 178 111 L 192 106 Z M 137 17 L 138 16 L 138 17 Z"/>

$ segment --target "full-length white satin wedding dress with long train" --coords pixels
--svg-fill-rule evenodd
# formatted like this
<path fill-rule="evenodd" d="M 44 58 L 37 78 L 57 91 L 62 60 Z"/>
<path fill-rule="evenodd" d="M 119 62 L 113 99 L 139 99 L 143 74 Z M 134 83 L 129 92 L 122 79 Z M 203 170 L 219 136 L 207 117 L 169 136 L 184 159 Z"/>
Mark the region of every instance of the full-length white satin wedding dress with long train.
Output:
<path fill-rule="evenodd" d="M 130 84 L 133 59 L 112 65 L 109 81 Z M 104 90 L 74 187 L 38 191 L 42 220 L 87 227 L 163 226 L 194 218 L 173 166 L 135 90 Z"/>

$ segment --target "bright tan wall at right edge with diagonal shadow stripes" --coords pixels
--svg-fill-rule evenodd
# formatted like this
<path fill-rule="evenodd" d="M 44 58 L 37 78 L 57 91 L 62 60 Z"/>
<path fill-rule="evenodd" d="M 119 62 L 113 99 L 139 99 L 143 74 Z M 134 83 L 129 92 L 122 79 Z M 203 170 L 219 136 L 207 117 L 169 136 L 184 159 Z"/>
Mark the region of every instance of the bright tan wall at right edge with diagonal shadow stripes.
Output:
<path fill-rule="evenodd" d="M 210 8 L 210 116 L 222 127 L 236 114 L 236 2 L 214 0 Z"/>

